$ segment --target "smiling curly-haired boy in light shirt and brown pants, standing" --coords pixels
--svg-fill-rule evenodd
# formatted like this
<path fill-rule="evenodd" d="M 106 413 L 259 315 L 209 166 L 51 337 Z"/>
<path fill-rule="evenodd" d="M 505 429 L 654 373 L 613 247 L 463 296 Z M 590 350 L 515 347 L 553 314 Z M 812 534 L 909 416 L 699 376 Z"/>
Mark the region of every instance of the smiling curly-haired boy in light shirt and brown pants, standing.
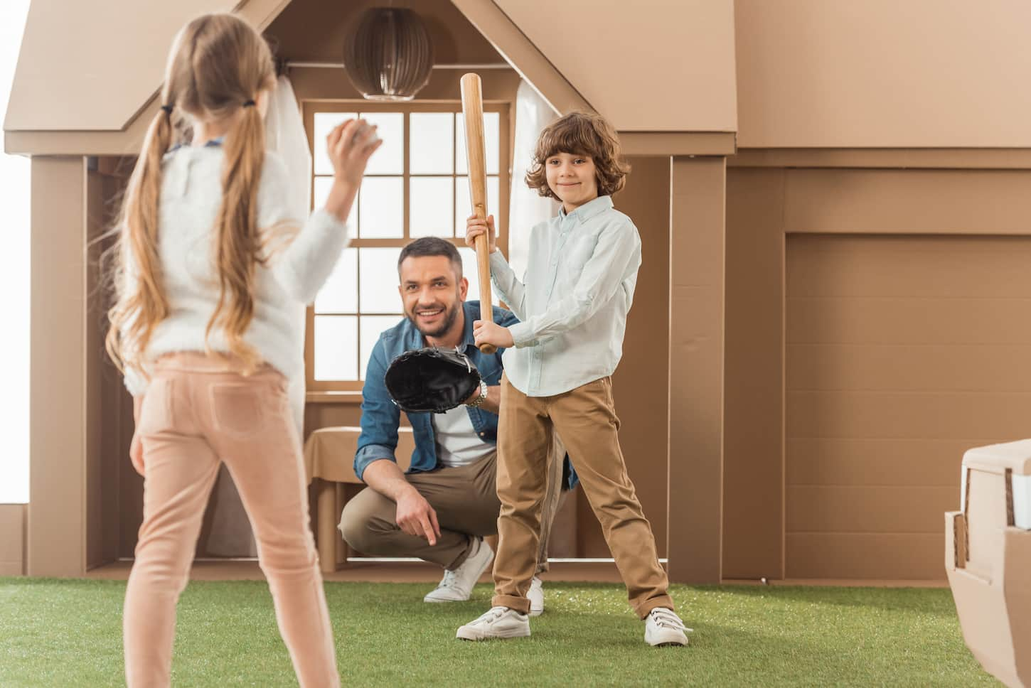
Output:
<path fill-rule="evenodd" d="M 652 526 L 627 476 L 611 374 L 623 354 L 641 242 L 612 207 L 629 171 L 611 125 L 574 112 L 537 141 L 527 183 L 562 202 L 533 228 L 520 281 L 495 246 L 494 218 L 469 217 L 466 243 L 486 234 L 494 284 L 521 322 L 476 320 L 477 345 L 504 347 L 498 425 L 498 552 L 492 609 L 458 629 L 470 641 L 530 634 L 527 591 L 534 574 L 552 433 L 563 439 L 631 606 L 653 646 L 687 645 L 659 563 Z"/>

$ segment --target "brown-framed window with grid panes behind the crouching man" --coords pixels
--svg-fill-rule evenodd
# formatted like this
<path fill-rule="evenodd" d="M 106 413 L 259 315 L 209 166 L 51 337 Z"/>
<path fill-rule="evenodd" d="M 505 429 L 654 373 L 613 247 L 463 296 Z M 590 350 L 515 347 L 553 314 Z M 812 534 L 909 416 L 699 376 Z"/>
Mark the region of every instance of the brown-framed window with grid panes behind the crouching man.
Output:
<path fill-rule="evenodd" d="M 344 119 L 378 125 L 384 139 L 369 161 L 350 217 L 352 241 L 314 305 L 308 308 L 305 369 L 312 391 L 359 390 L 379 334 L 403 317 L 397 259 L 412 239 L 451 240 L 469 280 L 466 299 L 479 298 L 475 253 L 465 246 L 470 214 L 465 127 L 461 103 L 307 103 L 312 142 L 312 208 L 322 207 L 333 181 L 326 136 Z M 507 249 L 507 105 L 484 104 L 488 209 L 498 245 Z M 497 303 L 495 296 L 494 302 Z"/>

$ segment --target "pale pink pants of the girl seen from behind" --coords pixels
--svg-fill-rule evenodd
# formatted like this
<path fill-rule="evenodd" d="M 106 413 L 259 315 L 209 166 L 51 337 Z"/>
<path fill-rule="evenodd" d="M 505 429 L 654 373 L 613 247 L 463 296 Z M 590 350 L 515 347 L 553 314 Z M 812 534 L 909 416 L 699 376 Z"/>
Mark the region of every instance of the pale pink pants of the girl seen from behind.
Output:
<path fill-rule="evenodd" d="M 225 461 L 258 541 L 279 632 L 302 688 L 339 686 L 286 378 L 248 377 L 202 353 L 163 357 L 143 399 L 143 523 L 126 589 L 126 680 L 168 686 L 175 605 L 208 494 Z"/>

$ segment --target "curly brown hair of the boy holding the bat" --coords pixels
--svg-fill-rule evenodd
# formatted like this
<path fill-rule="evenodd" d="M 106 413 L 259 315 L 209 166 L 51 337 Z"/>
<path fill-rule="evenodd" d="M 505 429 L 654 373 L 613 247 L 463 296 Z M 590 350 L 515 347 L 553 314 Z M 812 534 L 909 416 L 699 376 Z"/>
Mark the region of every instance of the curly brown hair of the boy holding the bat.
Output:
<path fill-rule="evenodd" d="M 560 200 L 547 185 L 544 163 L 560 152 L 588 156 L 594 161 L 598 196 L 611 196 L 626 183 L 630 165 L 623 160 L 616 129 L 600 114 L 570 112 L 540 133 L 526 183 L 541 196 Z"/>

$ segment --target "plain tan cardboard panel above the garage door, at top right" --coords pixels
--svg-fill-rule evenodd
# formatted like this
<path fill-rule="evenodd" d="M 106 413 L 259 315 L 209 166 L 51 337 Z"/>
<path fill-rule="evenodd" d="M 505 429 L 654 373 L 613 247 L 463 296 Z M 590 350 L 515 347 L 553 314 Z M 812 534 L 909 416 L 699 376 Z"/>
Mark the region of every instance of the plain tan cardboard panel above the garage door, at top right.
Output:
<path fill-rule="evenodd" d="M 1031 146 L 1022 0 L 737 0 L 734 13 L 743 148 Z"/>

